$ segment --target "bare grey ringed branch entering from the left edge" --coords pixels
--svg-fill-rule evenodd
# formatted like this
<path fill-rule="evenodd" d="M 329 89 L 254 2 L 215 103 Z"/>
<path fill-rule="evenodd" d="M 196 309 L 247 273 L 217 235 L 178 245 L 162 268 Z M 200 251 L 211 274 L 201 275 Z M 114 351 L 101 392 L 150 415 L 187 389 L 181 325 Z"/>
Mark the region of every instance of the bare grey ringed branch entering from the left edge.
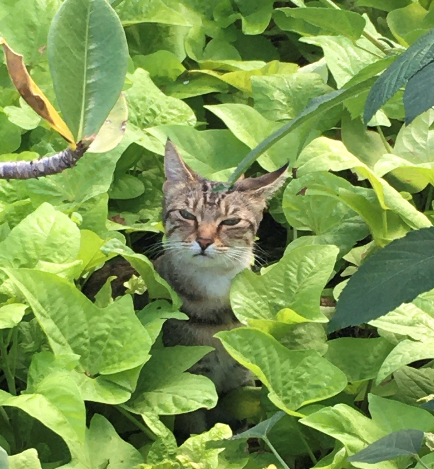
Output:
<path fill-rule="evenodd" d="M 66 148 L 53 156 L 32 161 L 6 161 L 0 163 L 0 179 L 31 179 L 61 173 L 75 166 L 84 155 L 88 146 L 79 142 L 77 148 Z"/>

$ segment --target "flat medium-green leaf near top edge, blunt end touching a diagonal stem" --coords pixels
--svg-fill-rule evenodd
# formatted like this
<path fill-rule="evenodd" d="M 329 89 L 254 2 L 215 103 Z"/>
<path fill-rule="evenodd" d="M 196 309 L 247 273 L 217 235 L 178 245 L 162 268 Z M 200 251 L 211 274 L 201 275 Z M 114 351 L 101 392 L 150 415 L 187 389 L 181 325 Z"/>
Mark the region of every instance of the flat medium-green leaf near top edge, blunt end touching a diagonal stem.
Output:
<path fill-rule="evenodd" d="M 277 8 L 277 11 L 319 27 L 321 34 L 331 33 L 353 40 L 360 38 L 366 24 L 358 13 L 334 8 Z M 282 26 L 280 28 L 285 30 Z"/>

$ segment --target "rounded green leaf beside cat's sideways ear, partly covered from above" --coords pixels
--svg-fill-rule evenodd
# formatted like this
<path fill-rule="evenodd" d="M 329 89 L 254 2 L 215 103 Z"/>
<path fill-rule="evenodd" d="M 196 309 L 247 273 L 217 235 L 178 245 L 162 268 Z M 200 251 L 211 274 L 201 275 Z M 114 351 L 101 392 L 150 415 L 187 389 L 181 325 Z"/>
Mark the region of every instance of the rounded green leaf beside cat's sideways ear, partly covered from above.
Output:
<path fill-rule="evenodd" d="M 369 228 L 364 220 L 344 202 L 327 196 L 302 196 L 305 177 L 293 179 L 285 189 L 282 209 L 288 223 L 312 236 L 301 236 L 288 244 L 287 250 L 301 245 L 334 244 L 340 255 L 348 252 L 355 242 L 365 238 Z"/>

